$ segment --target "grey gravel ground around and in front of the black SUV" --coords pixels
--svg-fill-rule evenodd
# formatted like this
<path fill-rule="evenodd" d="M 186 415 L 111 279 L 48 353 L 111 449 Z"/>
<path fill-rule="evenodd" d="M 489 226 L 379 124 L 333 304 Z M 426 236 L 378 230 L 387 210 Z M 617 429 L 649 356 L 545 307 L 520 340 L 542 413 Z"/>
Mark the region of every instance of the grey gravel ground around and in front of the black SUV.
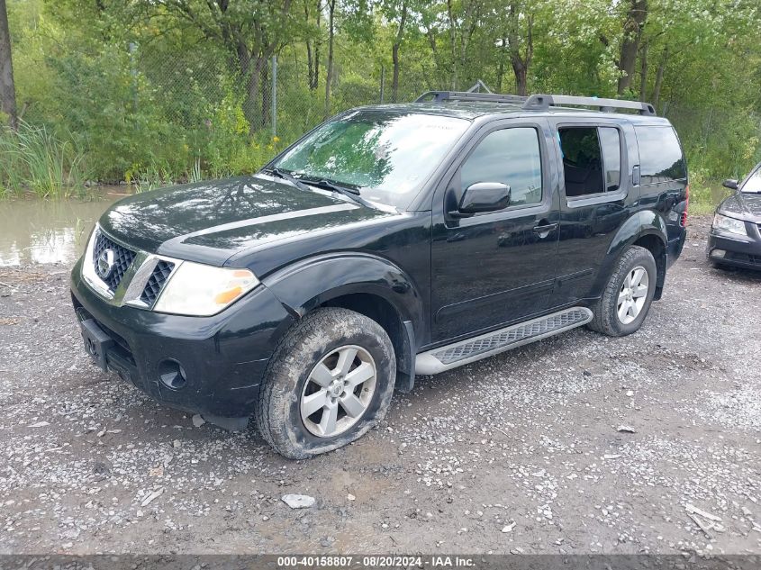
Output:
<path fill-rule="evenodd" d="M 418 378 L 301 462 L 91 366 L 68 267 L 0 268 L 0 553 L 759 553 L 761 274 L 709 223 L 638 333 Z"/>

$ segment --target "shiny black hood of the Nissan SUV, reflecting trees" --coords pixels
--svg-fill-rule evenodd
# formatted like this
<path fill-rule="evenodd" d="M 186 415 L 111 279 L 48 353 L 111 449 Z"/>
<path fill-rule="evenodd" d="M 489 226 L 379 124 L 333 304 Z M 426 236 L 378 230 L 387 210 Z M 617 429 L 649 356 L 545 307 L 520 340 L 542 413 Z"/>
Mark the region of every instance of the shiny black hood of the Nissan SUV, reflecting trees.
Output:
<path fill-rule="evenodd" d="M 137 249 L 222 266 L 246 249 L 388 215 L 268 176 L 240 176 L 132 195 L 100 224 Z"/>

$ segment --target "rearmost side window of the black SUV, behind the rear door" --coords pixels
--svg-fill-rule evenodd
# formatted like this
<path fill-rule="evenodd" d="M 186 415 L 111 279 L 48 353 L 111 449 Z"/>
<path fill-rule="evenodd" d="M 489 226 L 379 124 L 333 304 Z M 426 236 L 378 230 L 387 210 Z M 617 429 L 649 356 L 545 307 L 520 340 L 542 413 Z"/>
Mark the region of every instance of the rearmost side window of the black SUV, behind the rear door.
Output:
<path fill-rule="evenodd" d="M 639 144 L 641 184 L 683 180 L 687 167 L 673 128 L 634 127 Z"/>

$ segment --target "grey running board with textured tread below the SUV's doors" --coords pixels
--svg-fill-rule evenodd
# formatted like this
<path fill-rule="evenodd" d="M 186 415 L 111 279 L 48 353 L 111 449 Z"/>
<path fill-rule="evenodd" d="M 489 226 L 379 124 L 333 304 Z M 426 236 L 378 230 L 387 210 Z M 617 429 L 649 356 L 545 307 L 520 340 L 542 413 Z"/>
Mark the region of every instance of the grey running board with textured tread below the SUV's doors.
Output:
<path fill-rule="evenodd" d="M 592 311 L 572 307 L 553 312 L 539 319 L 520 322 L 505 329 L 493 330 L 473 339 L 444 347 L 433 348 L 417 355 L 415 374 L 433 375 L 463 366 L 481 358 L 491 357 L 511 348 L 522 347 L 535 340 L 546 339 L 592 321 Z"/>

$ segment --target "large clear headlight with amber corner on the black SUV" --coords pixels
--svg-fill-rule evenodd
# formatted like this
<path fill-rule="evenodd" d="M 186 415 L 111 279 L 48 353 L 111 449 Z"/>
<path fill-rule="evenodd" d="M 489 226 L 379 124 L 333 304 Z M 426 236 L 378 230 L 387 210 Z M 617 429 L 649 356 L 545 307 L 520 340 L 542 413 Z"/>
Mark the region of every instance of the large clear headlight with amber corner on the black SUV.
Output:
<path fill-rule="evenodd" d="M 153 310 L 206 317 L 222 311 L 258 283 L 248 269 L 183 261 L 164 286 Z"/>

